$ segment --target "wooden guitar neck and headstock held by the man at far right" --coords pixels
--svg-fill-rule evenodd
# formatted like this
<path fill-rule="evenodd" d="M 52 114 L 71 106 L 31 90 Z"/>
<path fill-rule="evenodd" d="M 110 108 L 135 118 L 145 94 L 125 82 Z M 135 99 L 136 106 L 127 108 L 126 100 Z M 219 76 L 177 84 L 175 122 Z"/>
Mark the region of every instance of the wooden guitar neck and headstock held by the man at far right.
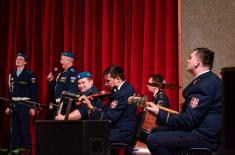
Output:
<path fill-rule="evenodd" d="M 144 97 L 130 96 L 128 98 L 128 103 L 129 104 L 135 103 L 137 107 L 141 107 L 141 108 L 145 108 L 146 107 L 146 102 L 147 102 L 147 98 L 145 96 Z M 157 106 L 158 106 L 159 109 L 161 109 L 163 111 L 166 111 L 166 112 L 169 112 L 169 113 L 173 113 L 173 114 L 179 114 L 178 111 L 175 111 L 175 110 L 172 110 L 172 109 L 160 106 L 158 104 L 157 104 Z"/>

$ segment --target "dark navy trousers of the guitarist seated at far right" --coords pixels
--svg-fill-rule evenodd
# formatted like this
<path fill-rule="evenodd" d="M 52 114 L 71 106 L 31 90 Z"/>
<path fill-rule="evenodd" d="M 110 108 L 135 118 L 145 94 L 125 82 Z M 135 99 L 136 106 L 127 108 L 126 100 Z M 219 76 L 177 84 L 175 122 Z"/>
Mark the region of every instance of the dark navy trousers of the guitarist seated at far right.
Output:
<path fill-rule="evenodd" d="M 209 148 L 215 151 L 218 144 L 208 142 L 191 131 L 155 131 L 147 137 L 147 147 L 152 155 L 172 155 L 189 148 Z"/>

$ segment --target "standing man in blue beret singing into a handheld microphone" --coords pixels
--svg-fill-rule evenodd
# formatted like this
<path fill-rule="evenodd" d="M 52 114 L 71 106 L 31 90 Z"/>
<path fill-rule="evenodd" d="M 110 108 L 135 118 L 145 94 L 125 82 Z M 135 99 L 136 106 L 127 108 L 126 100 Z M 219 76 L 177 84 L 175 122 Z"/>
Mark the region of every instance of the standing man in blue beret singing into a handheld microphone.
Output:
<path fill-rule="evenodd" d="M 60 103 L 62 91 L 69 91 L 71 93 L 78 93 L 77 86 L 77 71 L 73 67 L 74 54 L 71 52 L 62 52 L 60 57 L 60 64 L 63 69 L 54 80 L 53 73 L 49 73 L 47 79 L 49 87 L 54 90 L 54 98 L 57 104 Z M 56 110 L 57 112 L 57 110 Z M 54 116 L 57 115 L 54 114 Z M 54 117 L 53 116 L 53 117 Z M 54 118 L 53 118 L 54 119 Z"/>

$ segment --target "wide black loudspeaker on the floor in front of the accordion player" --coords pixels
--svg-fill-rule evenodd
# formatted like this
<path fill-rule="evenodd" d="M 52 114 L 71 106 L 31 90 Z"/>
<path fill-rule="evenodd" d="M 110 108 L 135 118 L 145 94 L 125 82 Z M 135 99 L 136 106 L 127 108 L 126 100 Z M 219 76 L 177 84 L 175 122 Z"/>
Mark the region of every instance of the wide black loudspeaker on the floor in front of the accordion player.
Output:
<path fill-rule="evenodd" d="M 108 155 L 110 122 L 36 121 L 36 155 Z"/>

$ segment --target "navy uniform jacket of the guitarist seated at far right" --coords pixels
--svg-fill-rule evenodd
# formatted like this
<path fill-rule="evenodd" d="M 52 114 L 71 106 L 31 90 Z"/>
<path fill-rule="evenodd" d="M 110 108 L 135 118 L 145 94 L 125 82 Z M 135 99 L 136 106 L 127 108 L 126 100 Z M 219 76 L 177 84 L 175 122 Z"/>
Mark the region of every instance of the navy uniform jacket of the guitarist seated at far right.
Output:
<path fill-rule="evenodd" d="M 211 142 L 221 129 L 221 80 L 211 71 L 195 78 L 183 91 L 185 108 L 179 115 L 159 111 L 158 119 L 176 129 L 192 131 Z"/>

